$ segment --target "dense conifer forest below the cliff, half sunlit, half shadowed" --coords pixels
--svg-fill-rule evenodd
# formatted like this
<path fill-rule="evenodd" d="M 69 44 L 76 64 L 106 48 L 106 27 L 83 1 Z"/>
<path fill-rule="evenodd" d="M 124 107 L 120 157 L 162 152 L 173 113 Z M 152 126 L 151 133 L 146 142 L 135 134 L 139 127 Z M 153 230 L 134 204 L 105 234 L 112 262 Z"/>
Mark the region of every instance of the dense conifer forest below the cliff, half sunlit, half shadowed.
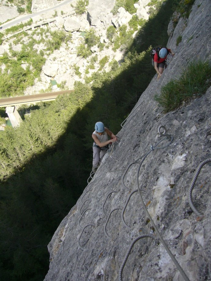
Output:
<path fill-rule="evenodd" d="M 155 75 L 151 48 L 166 45 L 172 14 L 187 11 L 186 2 L 165 1 L 127 46 L 121 66 L 95 73 L 91 85 L 75 82 L 73 93 L 38 104 L 19 128 L 0 134 L 1 280 L 44 279 L 47 245 L 87 185 L 94 124 L 118 133 Z"/>

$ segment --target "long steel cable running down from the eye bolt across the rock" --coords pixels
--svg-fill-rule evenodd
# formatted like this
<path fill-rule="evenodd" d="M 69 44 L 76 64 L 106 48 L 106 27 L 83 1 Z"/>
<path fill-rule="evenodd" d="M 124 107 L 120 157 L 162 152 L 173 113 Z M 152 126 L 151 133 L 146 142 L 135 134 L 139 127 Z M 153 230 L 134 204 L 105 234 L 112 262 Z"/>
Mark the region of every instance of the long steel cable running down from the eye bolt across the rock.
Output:
<path fill-rule="evenodd" d="M 149 153 L 147 153 L 148 155 Z M 170 258 L 172 259 L 172 261 L 174 262 L 174 264 L 176 265 L 176 268 L 180 271 L 181 275 L 183 276 L 184 280 L 185 281 L 190 281 L 189 278 L 187 277 L 187 275 L 185 274 L 184 270 L 181 268 L 180 264 L 178 263 L 178 261 L 176 260 L 176 258 L 173 256 L 172 252 L 169 250 L 169 247 L 167 246 L 166 242 L 163 240 L 157 226 L 155 225 L 153 219 L 151 218 L 151 215 L 149 214 L 148 210 L 147 210 L 147 207 L 146 205 L 144 204 L 144 200 L 142 198 L 142 195 L 141 195 L 141 190 L 140 190 L 140 186 L 139 186 L 139 180 L 138 180 L 138 177 L 139 177 L 139 172 L 140 172 L 140 168 L 141 168 L 141 165 L 142 163 L 144 162 L 145 158 L 147 157 L 147 155 L 143 158 L 143 160 L 141 161 L 140 165 L 139 165 L 139 168 L 138 168 L 138 171 L 137 171 L 137 176 L 136 176 L 136 182 L 137 182 L 137 186 L 138 186 L 138 191 L 139 191 L 139 194 L 140 194 L 140 199 L 141 199 L 141 203 L 144 207 L 144 210 L 145 210 L 145 213 L 148 217 L 148 219 L 151 221 L 151 224 L 152 226 L 155 228 L 157 234 L 158 234 L 158 237 L 160 238 L 163 246 L 165 247 L 166 251 L 168 252 Z"/>

